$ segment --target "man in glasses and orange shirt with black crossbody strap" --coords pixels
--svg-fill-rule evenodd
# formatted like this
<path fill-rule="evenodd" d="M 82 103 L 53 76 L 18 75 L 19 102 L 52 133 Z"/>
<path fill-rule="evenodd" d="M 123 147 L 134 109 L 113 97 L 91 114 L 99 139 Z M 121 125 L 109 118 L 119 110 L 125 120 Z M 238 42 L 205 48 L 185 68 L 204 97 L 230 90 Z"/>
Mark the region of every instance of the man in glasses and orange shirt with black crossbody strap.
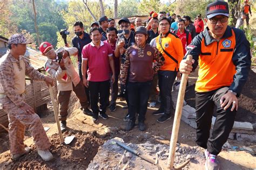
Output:
<path fill-rule="evenodd" d="M 160 89 L 160 108 L 153 115 L 162 115 L 157 122 L 164 123 L 174 114 L 171 89 L 177 76 L 179 63 L 183 59 L 183 46 L 179 37 L 170 32 L 170 19 L 161 17 L 158 27 L 160 35 L 156 38 L 157 49 L 163 54 L 165 63 L 158 71 Z"/>

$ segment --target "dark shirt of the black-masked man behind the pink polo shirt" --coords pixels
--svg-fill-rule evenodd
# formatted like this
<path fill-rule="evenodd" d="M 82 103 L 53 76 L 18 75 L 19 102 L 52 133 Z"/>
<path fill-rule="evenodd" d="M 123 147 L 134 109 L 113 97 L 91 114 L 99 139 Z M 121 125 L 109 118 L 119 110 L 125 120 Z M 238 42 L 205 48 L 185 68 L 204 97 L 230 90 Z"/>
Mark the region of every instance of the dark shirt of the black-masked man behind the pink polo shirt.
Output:
<path fill-rule="evenodd" d="M 84 32 L 84 37 L 80 39 L 78 36 L 73 37 L 72 45 L 78 49 L 78 65 L 82 63 L 82 49 L 85 45 L 91 42 L 90 35 Z"/>

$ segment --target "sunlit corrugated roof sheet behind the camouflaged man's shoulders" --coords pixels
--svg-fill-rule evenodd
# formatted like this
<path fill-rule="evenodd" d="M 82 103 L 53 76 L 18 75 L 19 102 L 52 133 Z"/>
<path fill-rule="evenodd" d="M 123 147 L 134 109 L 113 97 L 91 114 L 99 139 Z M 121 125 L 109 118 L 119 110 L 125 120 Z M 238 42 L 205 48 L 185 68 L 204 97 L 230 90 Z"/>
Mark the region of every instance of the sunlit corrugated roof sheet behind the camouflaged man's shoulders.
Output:
<path fill-rule="evenodd" d="M 4 54 L 6 54 L 7 50 L 8 48 L 0 48 L 0 58 Z M 24 57 L 26 61 L 28 61 L 33 68 L 44 70 L 44 65 L 47 58 L 46 56 L 41 55 L 41 52 L 27 47 Z"/>

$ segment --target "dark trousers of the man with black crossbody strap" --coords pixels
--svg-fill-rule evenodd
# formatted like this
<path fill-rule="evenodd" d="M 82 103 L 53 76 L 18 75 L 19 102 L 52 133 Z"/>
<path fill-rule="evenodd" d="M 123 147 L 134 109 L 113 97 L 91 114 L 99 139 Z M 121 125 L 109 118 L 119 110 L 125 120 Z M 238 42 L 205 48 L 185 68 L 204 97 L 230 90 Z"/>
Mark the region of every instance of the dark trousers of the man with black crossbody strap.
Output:
<path fill-rule="evenodd" d="M 171 109 L 174 110 L 172 101 L 172 86 L 176 76 L 176 71 L 158 71 L 158 85 L 161 98 L 160 110 L 164 111 L 164 114 L 166 115 L 171 114 Z"/>

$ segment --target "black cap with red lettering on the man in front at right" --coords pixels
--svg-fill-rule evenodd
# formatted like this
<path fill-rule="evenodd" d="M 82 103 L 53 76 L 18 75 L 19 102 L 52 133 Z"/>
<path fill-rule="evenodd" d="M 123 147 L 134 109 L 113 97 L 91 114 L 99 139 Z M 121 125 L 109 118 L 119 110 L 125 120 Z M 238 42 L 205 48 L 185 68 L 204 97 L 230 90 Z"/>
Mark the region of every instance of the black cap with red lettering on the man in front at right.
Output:
<path fill-rule="evenodd" d="M 228 4 L 224 1 L 212 2 L 207 5 L 205 15 L 209 19 L 218 15 L 229 17 Z"/>

